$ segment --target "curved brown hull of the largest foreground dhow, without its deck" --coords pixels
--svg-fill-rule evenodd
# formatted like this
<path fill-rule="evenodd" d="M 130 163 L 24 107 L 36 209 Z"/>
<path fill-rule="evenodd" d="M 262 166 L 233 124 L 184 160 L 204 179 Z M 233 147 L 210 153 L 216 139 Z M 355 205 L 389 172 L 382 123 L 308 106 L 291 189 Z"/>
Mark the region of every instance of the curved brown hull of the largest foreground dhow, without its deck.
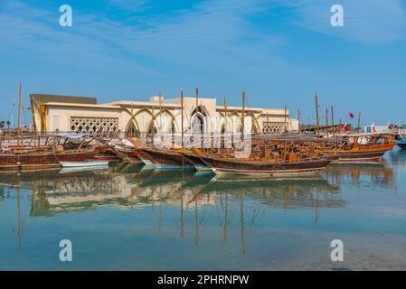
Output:
<path fill-rule="evenodd" d="M 200 157 L 204 163 L 217 174 L 243 174 L 264 177 L 292 176 L 299 174 L 314 174 L 324 170 L 332 159 L 308 160 L 295 163 L 262 163 L 239 159 L 227 160 L 211 157 Z"/>

